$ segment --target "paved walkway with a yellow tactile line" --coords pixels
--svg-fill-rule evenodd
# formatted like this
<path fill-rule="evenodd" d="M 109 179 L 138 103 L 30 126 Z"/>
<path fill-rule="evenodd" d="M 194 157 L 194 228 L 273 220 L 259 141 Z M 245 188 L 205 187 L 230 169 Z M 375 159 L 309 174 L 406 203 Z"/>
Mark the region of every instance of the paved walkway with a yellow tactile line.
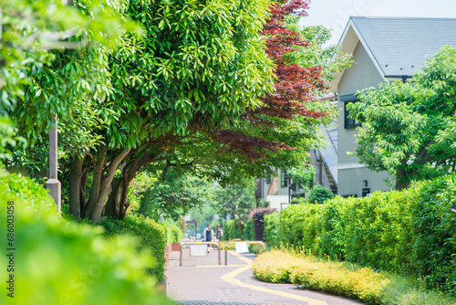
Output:
<path fill-rule="evenodd" d="M 254 255 L 239 255 L 228 251 L 228 266 L 218 266 L 218 250 L 207 257 L 190 257 L 183 249 L 182 266 L 179 252 L 171 252 L 167 268 L 167 294 L 180 304 L 211 305 L 359 305 L 348 300 L 316 291 L 295 288 L 291 284 L 271 284 L 254 279 L 251 264 Z"/>

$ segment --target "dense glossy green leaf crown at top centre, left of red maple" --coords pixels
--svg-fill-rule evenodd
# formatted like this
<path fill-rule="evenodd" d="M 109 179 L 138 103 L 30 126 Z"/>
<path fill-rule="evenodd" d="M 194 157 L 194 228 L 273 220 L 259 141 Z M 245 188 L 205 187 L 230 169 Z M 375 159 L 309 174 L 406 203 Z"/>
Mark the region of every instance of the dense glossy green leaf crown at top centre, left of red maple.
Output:
<path fill-rule="evenodd" d="M 134 1 L 128 16 L 146 29 L 125 37 L 111 58 L 114 107 L 125 121 L 109 126 L 141 137 L 233 126 L 272 89 L 271 63 L 258 32 L 267 1 Z M 113 141 L 117 142 L 116 139 Z M 131 143 L 129 143 L 131 144 Z"/>

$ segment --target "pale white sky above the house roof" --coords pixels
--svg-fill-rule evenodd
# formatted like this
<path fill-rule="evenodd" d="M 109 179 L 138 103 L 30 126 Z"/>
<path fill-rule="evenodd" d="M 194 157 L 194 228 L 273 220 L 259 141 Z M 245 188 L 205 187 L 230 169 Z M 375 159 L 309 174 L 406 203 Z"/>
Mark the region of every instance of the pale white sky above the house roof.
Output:
<path fill-rule="evenodd" d="M 349 16 L 456 18 L 456 0 L 311 0 L 303 26 L 333 30 L 329 44 L 337 44 Z"/>

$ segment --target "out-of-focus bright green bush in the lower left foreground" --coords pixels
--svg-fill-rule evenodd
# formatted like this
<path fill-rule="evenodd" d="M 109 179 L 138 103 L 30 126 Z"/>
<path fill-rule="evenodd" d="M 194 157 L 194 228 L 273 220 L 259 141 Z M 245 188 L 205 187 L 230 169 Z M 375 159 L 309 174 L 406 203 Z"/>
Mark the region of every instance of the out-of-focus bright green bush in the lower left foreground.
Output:
<path fill-rule="evenodd" d="M 165 304 L 144 276 L 149 259 L 136 254 L 131 237 L 107 239 L 100 227 L 68 223 L 57 216 L 47 191 L 28 178 L 0 170 L 0 222 L 14 202 L 14 299 L 0 304 Z M 11 205 L 9 205 L 11 206 Z M 0 265 L 8 266 L 6 226 L 0 230 Z M 9 251 L 8 251 L 9 253 Z M 3 283 L 9 279 L 0 271 Z"/>

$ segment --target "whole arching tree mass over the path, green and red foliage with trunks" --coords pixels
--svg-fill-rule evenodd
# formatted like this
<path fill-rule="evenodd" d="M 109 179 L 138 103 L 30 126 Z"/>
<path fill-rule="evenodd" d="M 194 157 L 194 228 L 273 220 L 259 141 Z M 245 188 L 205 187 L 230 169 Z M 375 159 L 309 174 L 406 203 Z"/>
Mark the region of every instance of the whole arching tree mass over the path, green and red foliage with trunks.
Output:
<path fill-rule="evenodd" d="M 98 12 L 71 4 L 82 16 Z M 58 114 L 73 216 L 125 216 L 129 184 L 150 163 L 226 185 L 293 167 L 321 143 L 319 125 L 335 112 L 314 96 L 326 90 L 323 64 L 333 53 L 295 55 L 321 47 L 306 38 L 325 37 L 295 30 L 306 1 L 102 4 L 125 23 L 116 43 L 98 42 L 96 28 L 66 37 L 74 48 L 46 50 L 8 110 L 28 146 L 7 165 L 44 179 L 47 127 Z"/>

